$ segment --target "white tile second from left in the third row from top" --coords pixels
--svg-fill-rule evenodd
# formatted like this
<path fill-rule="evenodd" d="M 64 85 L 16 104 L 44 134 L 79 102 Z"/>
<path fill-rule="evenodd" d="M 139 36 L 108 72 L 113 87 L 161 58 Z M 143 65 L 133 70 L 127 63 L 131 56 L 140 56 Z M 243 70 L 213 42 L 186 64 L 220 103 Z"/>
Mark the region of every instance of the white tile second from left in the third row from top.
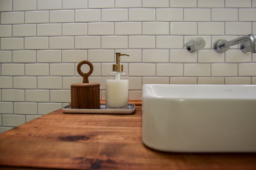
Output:
<path fill-rule="evenodd" d="M 36 36 L 36 24 L 13 25 L 12 36 L 14 37 Z"/>

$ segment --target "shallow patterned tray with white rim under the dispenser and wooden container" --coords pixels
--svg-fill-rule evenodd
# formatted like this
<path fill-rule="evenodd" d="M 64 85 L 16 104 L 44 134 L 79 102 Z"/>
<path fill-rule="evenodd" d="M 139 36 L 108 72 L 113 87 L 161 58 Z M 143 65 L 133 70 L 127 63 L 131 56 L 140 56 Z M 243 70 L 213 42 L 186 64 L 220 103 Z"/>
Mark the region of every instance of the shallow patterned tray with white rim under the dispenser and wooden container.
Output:
<path fill-rule="evenodd" d="M 100 103 L 100 109 L 72 109 L 71 105 L 62 107 L 65 113 L 98 113 L 98 114 L 131 114 L 135 104 L 129 103 L 127 109 L 107 109 L 105 103 Z"/>

